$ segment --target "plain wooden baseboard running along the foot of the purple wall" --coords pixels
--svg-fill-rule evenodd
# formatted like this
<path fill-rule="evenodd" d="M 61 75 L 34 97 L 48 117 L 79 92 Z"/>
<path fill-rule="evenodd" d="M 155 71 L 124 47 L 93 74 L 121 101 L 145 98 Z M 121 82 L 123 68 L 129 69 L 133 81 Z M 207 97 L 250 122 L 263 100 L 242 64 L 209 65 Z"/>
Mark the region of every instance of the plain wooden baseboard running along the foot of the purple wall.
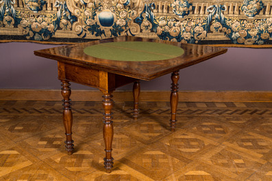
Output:
<path fill-rule="evenodd" d="M 100 101 L 98 90 L 72 90 L 73 101 Z M 116 91 L 115 101 L 132 101 L 132 92 Z M 170 91 L 142 91 L 141 101 L 169 101 Z M 58 89 L 0 89 L 0 100 L 62 100 Z M 272 102 L 272 92 L 245 91 L 180 91 L 180 102 Z"/>

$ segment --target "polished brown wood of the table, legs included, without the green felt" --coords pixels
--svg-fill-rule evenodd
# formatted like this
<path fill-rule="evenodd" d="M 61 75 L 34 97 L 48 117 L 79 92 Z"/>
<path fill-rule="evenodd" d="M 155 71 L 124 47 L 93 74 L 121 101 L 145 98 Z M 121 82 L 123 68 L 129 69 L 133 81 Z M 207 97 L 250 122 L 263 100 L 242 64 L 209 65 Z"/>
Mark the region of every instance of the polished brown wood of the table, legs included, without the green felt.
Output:
<path fill-rule="evenodd" d="M 106 42 L 157 42 L 171 44 L 184 49 L 184 54 L 179 57 L 164 59 L 160 61 L 115 61 L 111 59 L 99 59 L 84 53 L 84 48 L 95 44 Z M 179 79 L 178 71 L 182 68 L 192 66 L 211 57 L 227 52 L 226 48 L 212 46 L 201 46 L 196 44 L 181 44 L 178 42 L 167 42 L 147 38 L 122 36 L 106 40 L 97 40 L 69 46 L 48 48 L 45 50 L 34 51 L 35 55 L 55 59 L 58 61 L 58 79 L 62 81 L 63 96 L 63 122 L 66 130 L 66 150 L 69 154 L 73 152 L 72 124 L 73 116 L 71 111 L 71 88 L 69 81 L 97 87 L 103 93 L 103 138 L 105 141 L 106 157 L 104 165 L 108 173 L 113 167 L 112 140 L 113 140 L 113 121 L 112 121 L 112 92 L 127 83 L 134 82 L 134 119 L 138 117 L 138 96 L 140 94 L 140 84 L 138 80 L 149 81 L 156 79 L 164 74 L 172 73 L 171 87 L 171 130 L 175 130 L 176 110 L 178 102 Z M 105 53 L 106 47 L 105 47 Z"/>

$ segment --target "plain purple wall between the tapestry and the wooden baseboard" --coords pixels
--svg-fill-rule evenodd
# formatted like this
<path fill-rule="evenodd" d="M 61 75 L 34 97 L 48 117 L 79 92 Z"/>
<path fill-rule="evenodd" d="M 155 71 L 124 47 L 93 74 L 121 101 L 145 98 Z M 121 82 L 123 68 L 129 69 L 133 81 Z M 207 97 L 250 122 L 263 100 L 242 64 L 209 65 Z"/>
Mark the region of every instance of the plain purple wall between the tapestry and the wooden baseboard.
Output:
<path fill-rule="evenodd" d="M 52 44 L 0 43 L 0 89 L 60 89 L 57 62 L 36 57 L 34 50 Z M 180 70 L 182 90 L 272 90 L 271 48 L 228 48 L 227 53 Z M 170 74 L 141 82 L 141 89 L 169 90 Z M 72 84 L 72 89 L 87 89 Z M 126 85 L 120 89 L 132 89 Z"/>

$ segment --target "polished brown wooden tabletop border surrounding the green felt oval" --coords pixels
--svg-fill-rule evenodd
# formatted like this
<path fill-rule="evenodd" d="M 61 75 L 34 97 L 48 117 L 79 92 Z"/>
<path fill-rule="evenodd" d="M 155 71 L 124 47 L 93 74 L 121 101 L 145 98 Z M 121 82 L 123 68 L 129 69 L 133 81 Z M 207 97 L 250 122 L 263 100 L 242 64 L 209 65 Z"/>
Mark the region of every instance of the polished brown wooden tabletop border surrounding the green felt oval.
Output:
<path fill-rule="evenodd" d="M 156 44 L 164 44 L 171 47 L 177 46 L 177 48 L 180 48 L 182 50 L 182 53 L 180 52 L 180 55 L 178 55 L 178 53 L 175 54 L 177 48 L 173 48 L 175 51 L 174 53 L 171 52 L 173 55 L 172 57 L 162 57 L 160 58 L 160 60 L 149 59 L 145 61 L 132 61 L 132 59 L 127 59 L 127 61 L 125 61 L 125 59 L 112 60 L 112 58 L 106 59 L 105 57 L 96 57 L 99 55 L 91 56 L 86 54 L 86 50 L 88 50 L 88 48 L 90 48 L 91 46 L 97 46 L 98 44 L 106 45 L 106 43 L 111 42 L 153 42 Z M 84 50 L 86 53 L 84 53 Z M 141 51 L 150 50 L 145 50 L 145 48 L 143 48 L 141 49 Z M 158 51 L 156 52 L 156 49 L 154 51 L 155 53 L 158 53 Z M 205 61 L 206 59 L 216 57 L 217 55 L 221 55 L 226 52 L 226 48 L 219 48 L 214 46 L 182 44 L 180 42 L 169 42 L 165 40 L 139 38 L 134 36 L 120 36 L 117 38 L 109 38 L 104 40 L 95 40 L 92 42 L 47 48 L 39 51 L 34 51 L 34 54 L 40 57 L 46 57 L 49 59 L 62 61 L 66 64 L 84 66 L 86 68 L 103 70 L 114 74 L 121 74 L 123 76 L 129 76 L 135 79 L 149 81 L 151 79 L 157 78 L 158 76 L 169 74 L 170 72 L 173 72 L 175 70 L 180 70 L 182 68 L 198 64 L 201 61 Z M 143 57 L 146 56 L 145 53 L 143 53 Z M 120 58 L 122 56 L 120 56 L 119 54 L 118 57 Z M 124 55 L 124 57 L 127 57 L 127 55 Z"/>

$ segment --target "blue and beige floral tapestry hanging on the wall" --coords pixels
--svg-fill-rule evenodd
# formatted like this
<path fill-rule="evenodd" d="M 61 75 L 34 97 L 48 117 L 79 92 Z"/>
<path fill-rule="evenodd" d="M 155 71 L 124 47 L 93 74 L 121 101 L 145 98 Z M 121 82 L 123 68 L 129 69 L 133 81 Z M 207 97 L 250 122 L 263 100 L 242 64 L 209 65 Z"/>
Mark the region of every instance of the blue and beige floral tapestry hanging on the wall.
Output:
<path fill-rule="evenodd" d="M 0 42 L 114 36 L 190 44 L 272 44 L 272 0 L 0 0 Z"/>

